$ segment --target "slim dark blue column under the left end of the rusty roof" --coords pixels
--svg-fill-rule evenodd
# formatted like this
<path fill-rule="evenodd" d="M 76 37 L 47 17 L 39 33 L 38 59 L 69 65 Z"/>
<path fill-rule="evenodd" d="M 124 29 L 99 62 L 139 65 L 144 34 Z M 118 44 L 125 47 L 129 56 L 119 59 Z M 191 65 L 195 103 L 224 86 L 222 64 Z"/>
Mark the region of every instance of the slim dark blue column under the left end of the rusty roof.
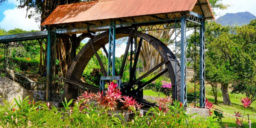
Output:
<path fill-rule="evenodd" d="M 47 60 L 46 60 L 46 98 L 45 100 L 48 101 L 49 99 L 49 86 L 51 84 L 50 80 L 50 53 L 51 53 L 51 29 L 50 26 L 47 27 L 48 36 L 47 36 Z"/>

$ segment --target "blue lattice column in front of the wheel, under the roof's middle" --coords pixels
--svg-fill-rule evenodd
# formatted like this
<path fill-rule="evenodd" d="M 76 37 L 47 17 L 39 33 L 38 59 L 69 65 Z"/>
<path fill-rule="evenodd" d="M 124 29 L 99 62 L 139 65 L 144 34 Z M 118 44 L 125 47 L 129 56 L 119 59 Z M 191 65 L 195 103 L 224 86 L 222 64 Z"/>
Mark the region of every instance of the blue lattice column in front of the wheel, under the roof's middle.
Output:
<path fill-rule="evenodd" d="M 116 51 L 116 20 L 113 20 L 109 28 L 109 49 L 108 49 L 108 76 L 112 73 L 115 76 L 115 51 Z M 111 70 L 112 64 L 112 70 Z"/>

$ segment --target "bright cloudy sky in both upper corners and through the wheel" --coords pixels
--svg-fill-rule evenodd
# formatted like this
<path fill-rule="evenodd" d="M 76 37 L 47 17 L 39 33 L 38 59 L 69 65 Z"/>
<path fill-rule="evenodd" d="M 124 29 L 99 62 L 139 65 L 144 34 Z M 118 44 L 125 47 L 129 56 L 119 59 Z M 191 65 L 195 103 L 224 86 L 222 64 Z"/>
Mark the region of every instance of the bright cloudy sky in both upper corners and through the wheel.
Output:
<path fill-rule="evenodd" d="M 214 10 L 218 16 L 223 16 L 226 13 L 237 12 L 250 12 L 256 16 L 256 0 L 222 0 L 222 3 L 229 4 L 230 7 L 227 10 Z M 17 0 L 8 0 L 2 6 L 0 6 L 0 28 L 5 30 L 11 30 L 14 28 L 21 28 L 23 30 L 40 30 L 39 23 L 36 23 L 34 19 L 28 19 L 26 17 L 25 9 L 17 9 L 19 5 Z M 126 44 L 123 44 L 120 48 L 116 48 L 116 56 L 123 54 Z"/>

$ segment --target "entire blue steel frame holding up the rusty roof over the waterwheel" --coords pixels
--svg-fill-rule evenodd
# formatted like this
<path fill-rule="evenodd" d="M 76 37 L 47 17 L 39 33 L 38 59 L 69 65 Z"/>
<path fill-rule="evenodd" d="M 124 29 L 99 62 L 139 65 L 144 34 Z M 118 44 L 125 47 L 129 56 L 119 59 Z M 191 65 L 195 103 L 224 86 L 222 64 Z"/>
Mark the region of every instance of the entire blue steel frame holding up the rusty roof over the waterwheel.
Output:
<path fill-rule="evenodd" d="M 57 26 L 48 26 L 48 36 L 47 36 L 47 86 L 46 86 L 46 100 L 49 100 L 49 92 L 52 90 L 49 90 L 52 86 L 52 75 L 51 70 L 53 62 L 51 62 L 51 51 L 52 51 L 52 45 L 56 44 L 56 35 L 58 34 L 64 34 L 68 33 L 68 30 L 74 30 L 74 32 L 80 32 L 83 29 L 89 29 L 89 28 L 96 28 L 96 27 L 109 27 L 110 33 L 109 33 L 109 51 L 108 51 L 108 75 L 107 76 L 115 76 L 115 41 L 116 41 L 116 26 L 126 26 L 130 25 L 132 27 L 137 28 L 137 30 L 140 31 L 149 31 L 149 30 L 162 30 L 162 29 L 172 29 L 172 28 L 180 28 L 181 29 L 181 90 L 176 90 L 176 93 L 179 91 L 181 92 L 180 95 L 180 101 L 184 104 L 184 106 L 187 105 L 187 98 L 186 98 L 186 28 L 189 27 L 199 27 L 200 26 L 200 107 L 205 106 L 205 39 L 204 39 L 204 33 L 205 33 L 205 24 L 204 24 L 204 17 L 196 14 L 194 12 L 180 12 L 181 18 L 177 19 L 170 19 L 171 15 L 174 14 L 166 14 L 165 18 L 160 18 L 158 16 L 146 16 L 146 19 L 151 19 L 151 21 L 140 21 L 137 22 L 136 19 L 134 19 L 134 23 L 126 23 L 124 21 L 122 22 L 116 22 L 116 20 L 112 20 L 110 24 L 103 24 L 101 21 L 97 21 L 96 24 L 88 23 L 88 26 L 83 26 L 83 23 L 81 27 L 77 28 L 68 28 L 66 25 L 57 25 Z M 176 14 L 175 14 L 176 15 Z M 156 20 L 158 19 L 158 20 Z M 103 21 L 104 22 L 104 21 Z M 174 24 L 175 23 L 175 24 Z M 156 25 L 158 24 L 158 25 Z M 98 26 L 100 25 L 100 26 Z M 175 30 L 176 31 L 176 30 Z M 177 33 L 176 33 L 177 34 Z M 177 35 L 176 35 L 177 36 Z M 0 40 L 1 41 L 1 40 Z M 178 43 L 176 42 L 176 45 Z M 177 47 L 177 46 L 176 46 Z M 8 45 L 4 48 L 8 48 Z M 6 51 L 7 52 L 7 51 Z M 177 51 L 176 51 L 177 52 Z M 7 57 L 7 56 L 6 56 Z M 178 60 L 176 60 L 178 63 Z M 112 64 L 112 66 L 111 66 Z M 7 61 L 6 61 L 7 65 Z M 111 69 L 112 67 L 112 69 Z M 178 72 L 176 70 L 176 72 Z M 121 83 L 120 83 L 121 84 Z M 102 83 L 103 85 L 103 83 Z M 119 85 L 120 86 L 120 85 Z M 177 85 L 176 85 L 177 86 Z M 178 96 L 176 96 L 176 99 L 178 99 Z"/>

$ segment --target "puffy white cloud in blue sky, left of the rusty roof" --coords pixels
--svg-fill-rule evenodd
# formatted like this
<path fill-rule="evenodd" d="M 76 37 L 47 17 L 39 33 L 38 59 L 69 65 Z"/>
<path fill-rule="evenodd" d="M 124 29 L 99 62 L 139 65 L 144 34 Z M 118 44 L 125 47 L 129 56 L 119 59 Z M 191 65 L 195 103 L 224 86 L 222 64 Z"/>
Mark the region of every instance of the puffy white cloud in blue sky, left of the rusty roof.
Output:
<path fill-rule="evenodd" d="M 10 0 L 8 2 L 15 2 L 15 0 Z M 28 12 L 29 13 L 29 12 Z M 39 23 L 36 23 L 33 18 L 26 18 L 25 9 L 9 9 L 4 11 L 4 18 L 0 22 L 0 28 L 5 30 L 11 30 L 14 28 L 21 28 L 23 30 L 40 30 Z"/>

